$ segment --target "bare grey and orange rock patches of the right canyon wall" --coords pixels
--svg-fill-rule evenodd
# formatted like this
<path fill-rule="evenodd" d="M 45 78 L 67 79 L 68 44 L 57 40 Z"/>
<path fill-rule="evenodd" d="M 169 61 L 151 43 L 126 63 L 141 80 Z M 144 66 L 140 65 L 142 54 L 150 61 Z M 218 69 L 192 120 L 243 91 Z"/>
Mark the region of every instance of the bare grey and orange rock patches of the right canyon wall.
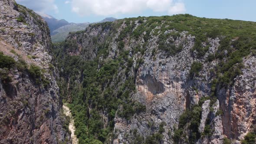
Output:
<path fill-rule="evenodd" d="M 114 22 L 115 23 L 115 22 Z M 135 23 L 135 29 L 138 23 Z M 91 43 L 94 37 L 98 38 L 98 43 L 104 43 L 105 38 L 110 43 L 108 56 L 106 59 L 115 59 L 118 57 L 117 38 L 122 29 L 125 29 L 125 22 L 117 28 L 116 33 L 110 33 L 110 29 L 102 29 L 101 25 L 89 26 L 85 31 L 69 34 L 67 40 L 72 41 L 78 49 L 66 49 L 70 55 L 79 55 L 84 59 L 94 59 L 97 56 L 98 47 Z M 158 29 L 156 27 L 155 29 Z M 151 33 L 155 29 L 152 29 Z M 164 33 L 175 32 L 175 30 L 167 30 Z M 126 121 L 115 117 L 114 133 L 116 138 L 114 144 L 130 144 L 133 136 L 129 136 L 130 131 L 137 129 L 142 137 L 146 138 L 158 131 L 159 124 L 166 122 L 163 132 L 163 143 L 172 144 L 172 135 L 168 135 L 168 131 L 173 134 L 174 128 L 179 124 L 179 118 L 186 108 L 197 105 L 201 98 L 211 94 L 211 81 L 215 78 L 212 69 L 216 68 L 219 61 L 205 62 L 209 54 L 215 54 L 220 46 L 220 39 L 208 39 L 209 49 L 202 59 L 196 59 L 196 52 L 191 49 L 194 46 L 195 36 L 189 35 L 187 32 L 179 32 L 180 37 L 174 40 L 176 46 L 182 45 L 182 51 L 175 56 L 167 56 L 165 52 L 158 49 L 158 36 L 150 35 L 150 39 L 146 43 L 146 51 L 143 55 L 140 53 L 133 56 L 129 53 L 129 58 L 133 57 L 136 65 L 138 59 L 144 62 L 135 73 L 134 69 L 128 72 L 129 76 L 135 76 L 136 93 L 131 95 L 136 101 L 146 105 L 147 111 L 135 115 L 131 120 Z M 173 39 L 169 37 L 168 39 Z M 130 42 L 128 42 L 130 40 Z M 143 45 L 144 39 L 132 39 L 127 37 L 124 40 L 125 50 L 132 51 L 135 46 Z M 155 49 L 156 55 L 152 56 L 152 50 Z M 101 57 L 101 60 L 104 61 Z M 200 74 L 193 80 L 189 79 L 189 70 L 193 62 L 203 62 L 203 69 Z M 213 129 L 213 135 L 208 138 L 201 138 L 198 144 L 222 144 L 223 137 L 230 139 L 243 139 L 244 135 L 249 131 L 249 127 L 253 125 L 255 120 L 255 75 L 256 62 L 255 56 L 248 56 L 244 59 L 245 68 L 243 75 L 235 79 L 235 85 L 230 88 L 217 88 L 217 98 L 213 104 L 213 111 L 210 111 L 210 100 L 205 101 L 202 106 L 202 117 L 200 121 L 200 132 L 203 132 L 207 117 L 210 117 L 210 128 Z M 121 72 L 121 69 L 118 70 Z M 122 79 L 121 79 L 122 80 Z M 230 90 L 228 90 L 230 89 Z M 216 115 L 218 110 L 223 111 L 223 115 Z M 149 123 L 154 123 L 149 126 Z"/>

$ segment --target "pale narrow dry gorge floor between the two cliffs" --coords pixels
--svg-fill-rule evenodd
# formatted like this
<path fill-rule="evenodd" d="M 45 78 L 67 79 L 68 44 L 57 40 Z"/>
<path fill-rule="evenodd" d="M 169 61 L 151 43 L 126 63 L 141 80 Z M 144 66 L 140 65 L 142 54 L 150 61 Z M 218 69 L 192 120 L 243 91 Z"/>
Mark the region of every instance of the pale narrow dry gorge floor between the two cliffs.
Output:
<path fill-rule="evenodd" d="M 78 144 L 78 139 L 75 135 L 75 125 L 74 125 L 74 119 L 72 118 L 71 112 L 67 104 L 63 104 L 62 106 L 63 112 L 66 116 L 70 117 L 70 123 L 69 123 L 69 131 L 71 131 L 71 138 L 72 138 L 72 144 Z"/>

